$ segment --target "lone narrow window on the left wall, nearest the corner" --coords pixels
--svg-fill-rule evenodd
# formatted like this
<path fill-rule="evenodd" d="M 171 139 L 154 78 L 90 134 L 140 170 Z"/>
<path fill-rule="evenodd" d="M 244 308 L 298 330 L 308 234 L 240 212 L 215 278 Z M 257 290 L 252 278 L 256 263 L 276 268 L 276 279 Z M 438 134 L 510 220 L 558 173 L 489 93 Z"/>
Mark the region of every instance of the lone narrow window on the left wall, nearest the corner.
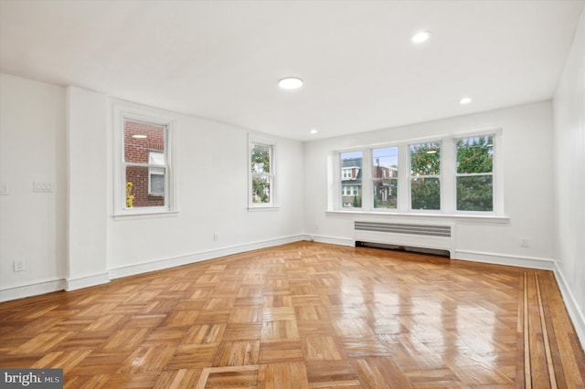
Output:
<path fill-rule="evenodd" d="M 276 142 L 250 137 L 250 200 L 249 206 L 275 206 Z"/>

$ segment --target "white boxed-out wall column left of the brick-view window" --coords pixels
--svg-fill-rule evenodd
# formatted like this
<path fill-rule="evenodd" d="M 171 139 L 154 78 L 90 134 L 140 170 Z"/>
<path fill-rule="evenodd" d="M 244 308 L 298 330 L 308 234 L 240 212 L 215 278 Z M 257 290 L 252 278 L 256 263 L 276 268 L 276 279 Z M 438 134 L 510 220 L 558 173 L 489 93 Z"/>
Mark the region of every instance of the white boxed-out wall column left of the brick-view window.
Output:
<path fill-rule="evenodd" d="M 106 103 L 100 93 L 67 89 L 68 290 L 109 281 Z"/>

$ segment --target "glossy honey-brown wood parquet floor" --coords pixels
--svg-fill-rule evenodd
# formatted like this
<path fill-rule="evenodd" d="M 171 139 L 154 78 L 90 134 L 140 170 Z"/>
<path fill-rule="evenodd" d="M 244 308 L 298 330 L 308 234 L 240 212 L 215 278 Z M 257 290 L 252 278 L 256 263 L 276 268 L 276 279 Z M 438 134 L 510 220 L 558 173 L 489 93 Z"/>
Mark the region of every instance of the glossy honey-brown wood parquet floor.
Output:
<path fill-rule="evenodd" d="M 299 242 L 0 304 L 67 388 L 582 388 L 553 275 Z"/>

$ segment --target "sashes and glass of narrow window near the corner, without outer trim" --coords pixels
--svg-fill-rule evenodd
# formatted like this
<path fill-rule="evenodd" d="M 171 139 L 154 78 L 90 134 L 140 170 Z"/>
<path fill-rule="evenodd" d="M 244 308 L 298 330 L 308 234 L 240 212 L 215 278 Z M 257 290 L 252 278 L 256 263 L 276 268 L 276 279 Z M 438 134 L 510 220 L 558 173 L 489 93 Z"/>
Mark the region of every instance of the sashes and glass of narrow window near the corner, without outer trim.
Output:
<path fill-rule="evenodd" d="M 251 193 L 250 205 L 272 205 L 274 191 L 272 144 L 251 143 L 250 150 L 250 177 Z"/>

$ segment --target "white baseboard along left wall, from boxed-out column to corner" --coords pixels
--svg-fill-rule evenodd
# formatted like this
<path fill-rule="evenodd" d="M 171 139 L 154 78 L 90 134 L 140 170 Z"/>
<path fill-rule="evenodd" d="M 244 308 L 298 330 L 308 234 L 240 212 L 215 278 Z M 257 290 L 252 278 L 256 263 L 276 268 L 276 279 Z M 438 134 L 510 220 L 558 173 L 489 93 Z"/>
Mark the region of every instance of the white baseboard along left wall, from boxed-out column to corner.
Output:
<path fill-rule="evenodd" d="M 157 259 L 151 262 L 140 263 L 136 265 L 123 266 L 119 268 L 110 268 L 110 279 L 121 279 L 122 277 L 135 276 L 137 274 L 148 273 L 150 271 L 162 270 L 165 268 L 175 268 L 177 266 L 188 265 L 191 263 L 201 262 L 207 259 L 220 258 L 239 254 L 246 251 L 257 250 L 260 248 L 280 246 L 287 243 L 309 240 L 304 235 L 293 235 L 290 237 L 278 237 L 274 239 L 260 240 L 243 245 L 229 247 L 220 247 L 213 250 L 199 251 L 197 253 L 187 254 L 184 256 Z"/>

